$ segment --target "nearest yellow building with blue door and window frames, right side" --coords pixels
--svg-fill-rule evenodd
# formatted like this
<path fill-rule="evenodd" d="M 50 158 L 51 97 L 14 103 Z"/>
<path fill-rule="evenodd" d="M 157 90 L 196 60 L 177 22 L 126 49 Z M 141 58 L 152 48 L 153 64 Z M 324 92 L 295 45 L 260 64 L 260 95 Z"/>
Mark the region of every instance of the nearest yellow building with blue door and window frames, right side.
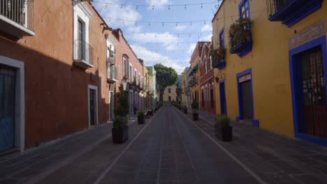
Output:
<path fill-rule="evenodd" d="M 212 20 L 212 59 L 226 65 L 215 69 L 217 114 L 327 145 L 326 11 L 321 0 L 222 1 Z"/>

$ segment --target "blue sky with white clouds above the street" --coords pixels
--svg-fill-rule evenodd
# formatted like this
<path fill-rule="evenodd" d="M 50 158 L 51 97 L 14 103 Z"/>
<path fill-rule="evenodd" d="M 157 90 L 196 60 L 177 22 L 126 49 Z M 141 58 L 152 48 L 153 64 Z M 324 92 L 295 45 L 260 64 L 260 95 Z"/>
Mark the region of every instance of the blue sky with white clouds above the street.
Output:
<path fill-rule="evenodd" d="M 211 40 L 211 20 L 218 6 L 217 0 L 94 0 L 92 4 L 112 29 L 122 29 L 145 66 L 161 63 L 178 74 L 189 66 L 196 43 Z"/>

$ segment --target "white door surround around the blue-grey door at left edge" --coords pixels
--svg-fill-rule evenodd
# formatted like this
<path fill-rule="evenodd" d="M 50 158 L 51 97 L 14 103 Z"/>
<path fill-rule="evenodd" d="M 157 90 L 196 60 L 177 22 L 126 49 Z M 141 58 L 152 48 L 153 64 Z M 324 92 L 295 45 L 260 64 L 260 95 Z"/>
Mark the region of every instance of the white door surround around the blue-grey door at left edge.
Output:
<path fill-rule="evenodd" d="M 25 78 L 24 63 L 6 56 L 0 56 L 0 63 L 16 69 L 15 86 L 15 147 L 25 149 Z"/>

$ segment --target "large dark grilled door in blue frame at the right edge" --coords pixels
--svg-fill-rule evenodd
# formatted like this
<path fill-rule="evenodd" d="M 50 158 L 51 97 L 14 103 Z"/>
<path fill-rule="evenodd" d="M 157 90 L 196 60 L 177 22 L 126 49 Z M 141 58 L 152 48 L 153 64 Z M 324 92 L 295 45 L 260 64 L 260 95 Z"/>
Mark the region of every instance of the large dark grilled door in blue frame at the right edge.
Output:
<path fill-rule="evenodd" d="M 298 94 L 301 132 L 327 138 L 326 84 L 321 47 L 296 55 L 302 91 Z M 300 88 L 301 89 L 301 88 Z"/>

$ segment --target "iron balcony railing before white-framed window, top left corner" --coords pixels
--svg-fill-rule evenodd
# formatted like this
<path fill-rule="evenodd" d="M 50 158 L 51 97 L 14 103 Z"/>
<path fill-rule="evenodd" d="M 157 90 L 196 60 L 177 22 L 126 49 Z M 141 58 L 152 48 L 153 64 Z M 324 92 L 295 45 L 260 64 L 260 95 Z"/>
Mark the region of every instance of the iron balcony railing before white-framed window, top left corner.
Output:
<path fill-rule="evenodd" d="M 34 31 L 34 0 L 0 0 L 0 15 Z"/>

